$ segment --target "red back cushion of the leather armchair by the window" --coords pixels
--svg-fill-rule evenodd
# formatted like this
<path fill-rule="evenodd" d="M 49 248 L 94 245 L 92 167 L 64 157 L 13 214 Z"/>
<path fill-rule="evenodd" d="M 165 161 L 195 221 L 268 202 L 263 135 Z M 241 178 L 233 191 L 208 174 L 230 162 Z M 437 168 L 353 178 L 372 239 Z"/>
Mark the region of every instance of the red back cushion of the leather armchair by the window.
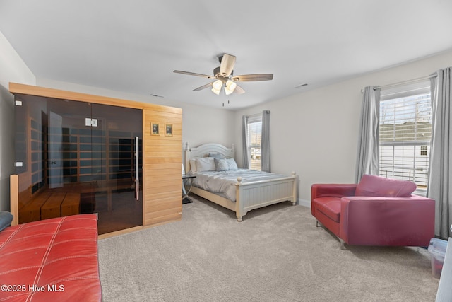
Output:
<path fill-rule="evenodd" d="M 415 190 L 416 184 L 408 180 L 363 175 L 356 187 L 355 196 L 407 197 Z"/>

